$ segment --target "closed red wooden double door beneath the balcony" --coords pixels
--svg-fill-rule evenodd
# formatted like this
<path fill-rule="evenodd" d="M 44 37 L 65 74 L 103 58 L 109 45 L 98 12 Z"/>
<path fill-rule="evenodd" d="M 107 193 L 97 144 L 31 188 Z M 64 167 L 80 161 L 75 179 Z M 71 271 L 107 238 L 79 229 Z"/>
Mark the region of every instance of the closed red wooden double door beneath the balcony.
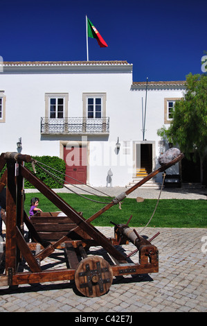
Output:
<path fill-rule="evenodd" d="M 64 146 L 64 161 L 66 162 L 65 181 L 72 185 L 85 184 L 87 182 L 87 148 L 82 146 L 67 148 Z"/>

